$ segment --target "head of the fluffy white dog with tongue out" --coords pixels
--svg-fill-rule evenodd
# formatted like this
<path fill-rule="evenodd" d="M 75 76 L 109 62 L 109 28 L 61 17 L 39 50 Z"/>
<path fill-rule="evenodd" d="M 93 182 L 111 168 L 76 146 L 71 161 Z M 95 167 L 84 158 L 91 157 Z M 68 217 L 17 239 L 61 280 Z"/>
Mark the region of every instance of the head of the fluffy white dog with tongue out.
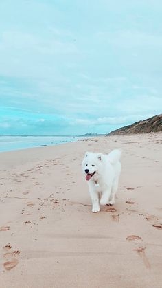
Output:
<path fill-rule="evenodd" d="M 94 175 L 98 174 L 100 163 L 102 162 L 102 153 L 86 152 L 82 161 L 82 170 L 89 181 Z"/>

